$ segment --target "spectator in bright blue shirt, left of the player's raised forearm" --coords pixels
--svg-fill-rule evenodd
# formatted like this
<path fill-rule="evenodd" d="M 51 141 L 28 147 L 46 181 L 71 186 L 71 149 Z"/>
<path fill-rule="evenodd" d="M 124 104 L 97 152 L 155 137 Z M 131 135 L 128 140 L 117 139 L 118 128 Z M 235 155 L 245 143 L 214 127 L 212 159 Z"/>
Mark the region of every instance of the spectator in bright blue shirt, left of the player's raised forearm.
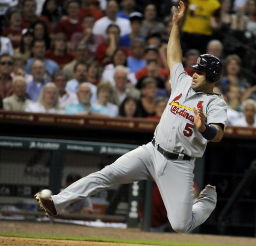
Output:
<path fill-rule="evenodd" d="M 130 44 L 131 56 L 127 59 L 127 66 L 136 73 L 141 68 L 145 67 L 147 62 L 143 59 L 145 43 L 140 38 L 134 38 Z"/>

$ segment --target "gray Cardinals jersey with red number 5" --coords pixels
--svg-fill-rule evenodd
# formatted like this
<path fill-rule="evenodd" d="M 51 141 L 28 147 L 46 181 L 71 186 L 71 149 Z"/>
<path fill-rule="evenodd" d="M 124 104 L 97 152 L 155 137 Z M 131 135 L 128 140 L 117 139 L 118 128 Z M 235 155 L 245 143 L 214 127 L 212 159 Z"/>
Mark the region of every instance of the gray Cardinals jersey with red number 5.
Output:
<path fill-rule="evenodd" d="M 191 83 L 192 77 L 184 71 L 181 63 L 176 63 L 171 71 L 171 96 L 154 135 L 163 149 L 201 157 L 208 140 L 193 123 L 193 107 L 203 109 L 206 123 L 226 126 L 227 106 L 221 94 L 195 92 Z"/>

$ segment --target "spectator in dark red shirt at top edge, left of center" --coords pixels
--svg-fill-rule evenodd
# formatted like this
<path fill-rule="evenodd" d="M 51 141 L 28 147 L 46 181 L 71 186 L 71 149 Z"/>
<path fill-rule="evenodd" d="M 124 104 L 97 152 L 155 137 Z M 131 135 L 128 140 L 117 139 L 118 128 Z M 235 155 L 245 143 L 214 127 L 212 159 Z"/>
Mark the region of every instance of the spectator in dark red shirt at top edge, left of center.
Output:
<path fill-rule="evenodd" d="M 70 40 L 73 33 L 83 31 L 78 19 L 79 8 L 80 1 L 78 0 L 67 0 L 65 2 L 64 9 L 66 10 L 67 18 L 59 21 L 55 28 L 55 33 L 63 32 L 67 39 Z"/>

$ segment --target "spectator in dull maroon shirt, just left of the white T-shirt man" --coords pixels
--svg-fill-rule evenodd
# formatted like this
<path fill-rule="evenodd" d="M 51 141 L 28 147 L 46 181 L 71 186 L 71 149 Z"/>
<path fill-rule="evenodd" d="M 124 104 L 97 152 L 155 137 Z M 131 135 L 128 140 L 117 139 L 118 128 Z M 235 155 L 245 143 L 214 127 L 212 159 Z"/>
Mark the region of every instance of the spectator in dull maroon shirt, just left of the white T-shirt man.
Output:
<path fill-rule="evenodd" d="M 74 49 L 78 43 L 84 42 L 89 51 L 90 58 L 95 58 L 96 49 L 98 45 L 104 42 L 104 38 L 102 35 L 93 34 L 92 30 L 93 30 L 94 23 L 95 23 L 94 16 L 92 15 L 83 16 L 81 21 L 81 26 L 83 31 L 75 32 L 71 37 L 72 49 Z"/>

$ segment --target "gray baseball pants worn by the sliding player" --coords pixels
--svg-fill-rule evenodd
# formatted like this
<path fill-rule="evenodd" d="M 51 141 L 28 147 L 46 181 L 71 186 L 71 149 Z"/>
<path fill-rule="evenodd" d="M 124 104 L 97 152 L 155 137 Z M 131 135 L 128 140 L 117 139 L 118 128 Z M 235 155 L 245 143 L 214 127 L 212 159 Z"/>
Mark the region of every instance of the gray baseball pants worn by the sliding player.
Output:
<path fill-rule="evenodd" d="M 153 180 L 159 187 L 173 230 L 189 232 L 209 217 L 217 202 L 214 189 L 193 202 L 193 168 L 194 160 L 168 160 L 150 142 L 69 185 L 52 199 L 60 213 L 69 204 L 114 184 Z"/>

